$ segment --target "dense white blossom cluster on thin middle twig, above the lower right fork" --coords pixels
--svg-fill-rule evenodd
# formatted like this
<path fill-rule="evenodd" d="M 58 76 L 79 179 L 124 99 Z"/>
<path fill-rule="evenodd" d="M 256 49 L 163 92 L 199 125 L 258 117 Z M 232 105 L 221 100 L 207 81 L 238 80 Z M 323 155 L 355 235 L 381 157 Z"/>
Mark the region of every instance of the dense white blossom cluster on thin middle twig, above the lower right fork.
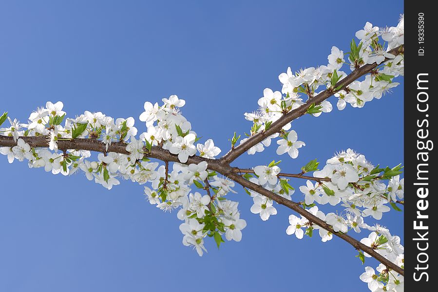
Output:
<path fill-rule="evenodd" d="M 403 199 L 404 179 L 400 180 L 400 169 L 400 165 L 375 167 L 364 155 L 347 149 L 327 160 L 322 170 L 313 173 L 317 182 L 307 180 L 300 191 L 305 194 L 306 205 L 316 202 L 335 206 L 342 202 L 347 214 L 380 220 L 382 213 L 390 210 L 388 203 Z M 318 178 L 324 181 L 318 182 Z M 382 180 L 388 180 L 388 185 Z"/>

